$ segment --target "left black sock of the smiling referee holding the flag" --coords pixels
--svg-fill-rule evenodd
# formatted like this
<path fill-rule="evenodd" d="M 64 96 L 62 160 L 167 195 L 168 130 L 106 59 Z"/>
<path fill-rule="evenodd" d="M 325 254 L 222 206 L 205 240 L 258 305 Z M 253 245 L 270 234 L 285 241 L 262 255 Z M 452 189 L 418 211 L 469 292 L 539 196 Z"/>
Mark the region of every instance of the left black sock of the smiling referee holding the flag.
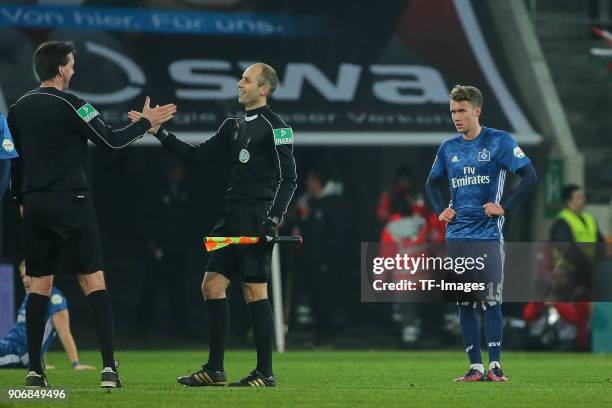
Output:
<path fill-rule="evenodd" d="M 227 298 L 208 299 L 208 363 L 206 367 L 215 371 L 223 371 L 225 345 L 229 335 L 229 302 Z"/>

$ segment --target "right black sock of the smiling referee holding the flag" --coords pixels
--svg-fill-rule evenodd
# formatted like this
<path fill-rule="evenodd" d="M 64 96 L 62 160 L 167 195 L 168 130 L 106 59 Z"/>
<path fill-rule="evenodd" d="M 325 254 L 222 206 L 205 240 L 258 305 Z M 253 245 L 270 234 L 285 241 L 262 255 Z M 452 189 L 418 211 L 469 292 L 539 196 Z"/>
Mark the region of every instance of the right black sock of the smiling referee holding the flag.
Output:
<path fill-rule="evenodd" d="M 257 347 L 257 370 L 272 375 L 272 347 L 274 342 L 274 315 L 268 299 L 249 303 L 253 319 L 253 334 Z"/>

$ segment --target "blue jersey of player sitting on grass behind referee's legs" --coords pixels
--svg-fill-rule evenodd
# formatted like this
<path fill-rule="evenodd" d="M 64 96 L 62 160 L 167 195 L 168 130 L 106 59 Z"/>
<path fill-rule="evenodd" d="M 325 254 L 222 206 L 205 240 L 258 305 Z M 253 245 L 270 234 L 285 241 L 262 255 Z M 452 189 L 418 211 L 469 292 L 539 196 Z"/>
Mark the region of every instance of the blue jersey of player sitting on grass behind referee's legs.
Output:
<path fill-rule="evenodd" d="M 17 321 L 15 325 L 11 327 L 6 337 L 2 339 L 3 342 L 10 345 L 15 353 L 23 355 L 28 352 L 28 339 L 26 336 L 26 322 L 25 322 L 25 308 L 28 302 L 28 296 L 23 299 L 21 306 L 17 312 Z M 55 337 L 55 327 L 53 326 L 53 320 L 51 319 L 54 314 L 60 310 L 68 308 L 68 302 L 66 296 L 57 288 L 53 287 L 51 290 L 51 297 L 49 298 L 49 309 L 47 312 L 47 319 L 45 323 L 45 332 L 43 336 L 42 352 L 47 352 L 51 342 Z"/>

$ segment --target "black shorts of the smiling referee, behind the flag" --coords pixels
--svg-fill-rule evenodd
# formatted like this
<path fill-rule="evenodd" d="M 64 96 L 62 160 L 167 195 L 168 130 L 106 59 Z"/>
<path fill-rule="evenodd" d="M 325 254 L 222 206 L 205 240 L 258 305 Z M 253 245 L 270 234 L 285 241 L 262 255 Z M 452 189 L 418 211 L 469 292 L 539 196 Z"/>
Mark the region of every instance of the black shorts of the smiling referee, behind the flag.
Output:
<path fill-rule="evenodd" d="M 270 203 L 228 203 L 211 236 L 259 236 Z M 272 245 L 229 245 L 210 253 L 207 271 L 243 282 L 263 283 L 272 273 Z"/>

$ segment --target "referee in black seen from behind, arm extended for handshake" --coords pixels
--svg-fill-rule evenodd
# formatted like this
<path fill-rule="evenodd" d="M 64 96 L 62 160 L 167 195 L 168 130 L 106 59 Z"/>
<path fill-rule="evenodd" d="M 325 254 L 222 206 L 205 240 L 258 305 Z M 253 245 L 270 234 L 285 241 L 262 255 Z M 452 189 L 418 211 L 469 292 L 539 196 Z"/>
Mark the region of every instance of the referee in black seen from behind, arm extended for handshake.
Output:
<path fill-rule="evenodd" d="M 113 317 L 102 272 L 96 213 L 88 192 L 87 141 L 105 150 L 128 146 L 147 129 L 170 120 L 176 106 L 155 109 L 147 97 L 142 119 L 123 129 L 107 126 L 85 101 L 65 92 L 74 75 L 74 45 L 43 43 L 34 52 L 41 85 L 9 109 L 8 125 L 19 159 L 11 189 L 23 217 L 27 274 L 29 372 L 26 386 L 48 386 L 41 345 L 49 294 L 56 273 L 76 274 L 87 296 L 102 353 L 101 386 L 121 386 L 113 355 Z"/>

